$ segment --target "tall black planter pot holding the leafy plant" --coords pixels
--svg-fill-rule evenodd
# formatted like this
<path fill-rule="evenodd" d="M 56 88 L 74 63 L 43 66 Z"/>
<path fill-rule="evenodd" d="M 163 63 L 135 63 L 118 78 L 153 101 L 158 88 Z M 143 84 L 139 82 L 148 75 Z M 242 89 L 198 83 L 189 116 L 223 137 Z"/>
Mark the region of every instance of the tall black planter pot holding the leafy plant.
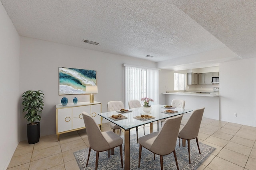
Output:
<path fill-rule="evenodd" d="M 40 122 L 35 122 L 34 125 L 31 125 L 31 123 L 27 124 L 27 136 L 29 144 L 38 143 L 40 138 Z"/>

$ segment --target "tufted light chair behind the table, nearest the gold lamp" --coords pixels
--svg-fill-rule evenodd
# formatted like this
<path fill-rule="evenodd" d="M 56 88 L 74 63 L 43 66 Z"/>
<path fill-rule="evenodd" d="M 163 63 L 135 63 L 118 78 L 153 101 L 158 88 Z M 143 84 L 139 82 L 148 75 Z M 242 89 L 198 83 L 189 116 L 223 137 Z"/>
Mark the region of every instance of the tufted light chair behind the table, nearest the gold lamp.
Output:
<path fill-rule="evenodd" d="M 124 109 L 124 104 L 121 101 L 110 101 L 108 102 L 108 111 L 116 111 Z M 121 135 L 121 127 L 116 125 L 115 123 L 110 122 L 110 129 L 113 129 L 114 133 L 116 133 L 116 129 L 119 129 L 119 136 Z"/>

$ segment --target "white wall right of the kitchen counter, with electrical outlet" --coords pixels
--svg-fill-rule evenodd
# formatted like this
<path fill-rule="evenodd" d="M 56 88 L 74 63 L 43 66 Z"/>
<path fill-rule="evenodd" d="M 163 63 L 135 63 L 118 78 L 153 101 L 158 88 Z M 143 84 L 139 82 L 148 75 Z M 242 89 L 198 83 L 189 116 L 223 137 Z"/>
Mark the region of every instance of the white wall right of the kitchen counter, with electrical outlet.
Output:
<path fill-rule="evenodd" d="M 220 120 L 256 127 L 256 58 L 220 63 L 220 72 Z"/>

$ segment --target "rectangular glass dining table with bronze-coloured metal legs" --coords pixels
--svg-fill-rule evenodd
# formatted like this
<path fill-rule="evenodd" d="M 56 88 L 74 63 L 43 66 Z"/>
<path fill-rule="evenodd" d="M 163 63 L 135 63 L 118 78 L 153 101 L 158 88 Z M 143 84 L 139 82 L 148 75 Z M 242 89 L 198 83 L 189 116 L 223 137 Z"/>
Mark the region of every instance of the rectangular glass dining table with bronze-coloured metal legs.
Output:
<path fill-rule="evenodd" d="M 109 111 L 105 113 L 99 113 L 100 116 L 108 121 L 120 126 L 124 129 L 124 169 L 130 170 L 130 129 L 139 127 L 150 123 L 150 133 L 153 132 L 153 122 L 161 119 L 181 115 L 192 111 L 191 109 L 182 109 L 178 107 L 165 108 L 166 105 L 152 105 L 151 111 L 145 113 L 143 107 L 129 109 L 128 111 Z M 166 110 L 176 111 L 175 113 L 165 112 Z M 163 113 L 164 112 L 164 113 Z M 112 115 L 121 114 L 122 117 L 112 117 Z M 148 115 L 147 117 L 141 117 L 141 115 Z"/>

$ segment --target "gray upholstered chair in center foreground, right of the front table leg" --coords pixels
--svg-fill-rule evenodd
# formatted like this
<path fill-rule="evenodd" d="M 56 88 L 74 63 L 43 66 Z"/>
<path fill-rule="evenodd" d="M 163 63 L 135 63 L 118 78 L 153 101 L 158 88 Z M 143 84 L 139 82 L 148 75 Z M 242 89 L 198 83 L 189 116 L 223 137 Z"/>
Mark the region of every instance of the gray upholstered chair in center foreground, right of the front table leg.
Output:
<path fill-rule="evenodd" d="M 168 118 L 164 122 L 164 125 L 159 132 L 150 133 L 139 138 L 139 168 L 141 151 L 142 147 L 144 147 L 154 153 L 154 158 L 155 154 L 160 155 L 161 170 L 163 169 L 163 155 L 167 155 L 173 152 L 177 169 L 179 169 L 175 147 L 180 129 L 181 119 L 182 115 Z"/>

